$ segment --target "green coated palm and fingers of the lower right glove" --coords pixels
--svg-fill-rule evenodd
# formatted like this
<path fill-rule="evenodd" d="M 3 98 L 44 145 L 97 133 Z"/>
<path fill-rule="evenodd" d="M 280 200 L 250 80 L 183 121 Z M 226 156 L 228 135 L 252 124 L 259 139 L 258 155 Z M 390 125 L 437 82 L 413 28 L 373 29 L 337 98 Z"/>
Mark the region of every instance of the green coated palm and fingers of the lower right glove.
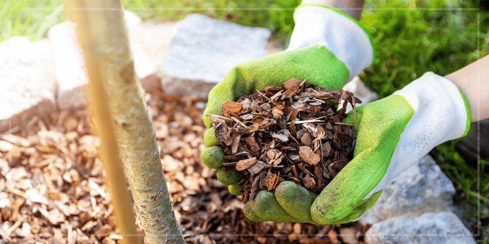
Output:
<path fill-rule="evenodd" d="M 384 177 L 401 132 L 413 114 L 412 107 L 399 95 L 358 107 L 354 158 L 319 196 L 285 181 L 277 186 L 274 197 L 260 191 L 254 200 L 247 202 L 246 217 L 251 221 L 320 225 L 343 224 L 357 219 L 379 198 L 382 191 L 362 201 Z M 353 124 L 353 111 L 344 122 Z M 275 215 L 271 215 L 269 209 L 273 209 Z"/>

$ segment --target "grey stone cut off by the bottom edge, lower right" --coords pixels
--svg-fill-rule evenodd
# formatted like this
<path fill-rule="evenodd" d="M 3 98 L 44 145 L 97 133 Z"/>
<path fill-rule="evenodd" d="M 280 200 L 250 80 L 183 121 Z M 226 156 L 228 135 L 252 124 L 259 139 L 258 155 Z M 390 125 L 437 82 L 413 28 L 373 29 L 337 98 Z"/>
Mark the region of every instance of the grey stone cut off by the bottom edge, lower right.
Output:
<path fill-rule="evenodd" d="M 373 224 L 367 244 L 476 244 L 471 232 L 451 212 L 426 213 L 415 218 L 393 218 Z"/>

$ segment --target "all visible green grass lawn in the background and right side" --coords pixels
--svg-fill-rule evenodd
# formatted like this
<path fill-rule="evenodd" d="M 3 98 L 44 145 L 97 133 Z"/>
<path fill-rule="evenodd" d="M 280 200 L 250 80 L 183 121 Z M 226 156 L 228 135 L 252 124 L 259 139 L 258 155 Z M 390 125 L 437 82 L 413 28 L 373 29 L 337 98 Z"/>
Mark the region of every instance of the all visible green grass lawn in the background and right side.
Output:
<path fill-rule="evenodd" d="M 293 9 L 299 0 L 122 0 L 144 20 L 174 21 L 188 13 L 273 31 L 272 38 L 287 45 L 293 29 Z M 60 0 L 0 1 L 0 41 L 10 36 L 36 40 L 63 20 Z M 360 78 L 380 98 L 401 89 L 425 72 L 450 74 L 489 53 L 489 11 L 479 0 L 367 0 L 360 22 L 372 34 L 376 59 Z M 482 218 L 479 243 L 489 244 L 489 162 L 466 162 L 455 150 L 456 141 L 437 146 L 430 154 L 452 179 L 457 204 L 475 207 Z M 478 181 L 477 165 L 480 167 Z M 480 192 L 480 195 L 479 195 Z M 479 199 L 479 200 L 478 200 Z M 480 211 L 478 211 L 478 209 Z"/>

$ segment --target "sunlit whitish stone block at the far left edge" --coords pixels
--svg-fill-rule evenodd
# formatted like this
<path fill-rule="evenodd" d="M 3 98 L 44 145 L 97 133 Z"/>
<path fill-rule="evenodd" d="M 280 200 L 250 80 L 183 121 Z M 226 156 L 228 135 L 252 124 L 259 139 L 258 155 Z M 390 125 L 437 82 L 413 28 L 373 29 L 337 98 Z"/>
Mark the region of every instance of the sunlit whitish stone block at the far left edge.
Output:
<path fill-rule="evenodd" d="M 51 43 L 10 37 L 0 54 L 0 133 L 56 111 Z"/>

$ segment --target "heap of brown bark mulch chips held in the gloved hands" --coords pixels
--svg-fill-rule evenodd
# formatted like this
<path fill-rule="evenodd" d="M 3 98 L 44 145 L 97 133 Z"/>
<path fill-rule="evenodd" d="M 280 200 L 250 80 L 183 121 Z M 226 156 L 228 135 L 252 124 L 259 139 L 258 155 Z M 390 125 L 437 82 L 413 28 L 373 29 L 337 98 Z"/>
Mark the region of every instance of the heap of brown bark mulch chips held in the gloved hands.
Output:
<path fill-rule="evenodd" d="M 348 163 L 355 125 L 341 120 L 347 103 L 355 117 L 355 104 L 361 101 L 342 89 L 304 83 L 288 79 L 283 87 L 265 87 L 224 103 L 220 115 L 207 115 L 224 147 L 224 170 L 236 168 L 243 176 L 243 203 L 260 190 L 274 192 L 282 181 L 319 194 Z M 343 106 L 336 111 L 340 100 Z"/>

